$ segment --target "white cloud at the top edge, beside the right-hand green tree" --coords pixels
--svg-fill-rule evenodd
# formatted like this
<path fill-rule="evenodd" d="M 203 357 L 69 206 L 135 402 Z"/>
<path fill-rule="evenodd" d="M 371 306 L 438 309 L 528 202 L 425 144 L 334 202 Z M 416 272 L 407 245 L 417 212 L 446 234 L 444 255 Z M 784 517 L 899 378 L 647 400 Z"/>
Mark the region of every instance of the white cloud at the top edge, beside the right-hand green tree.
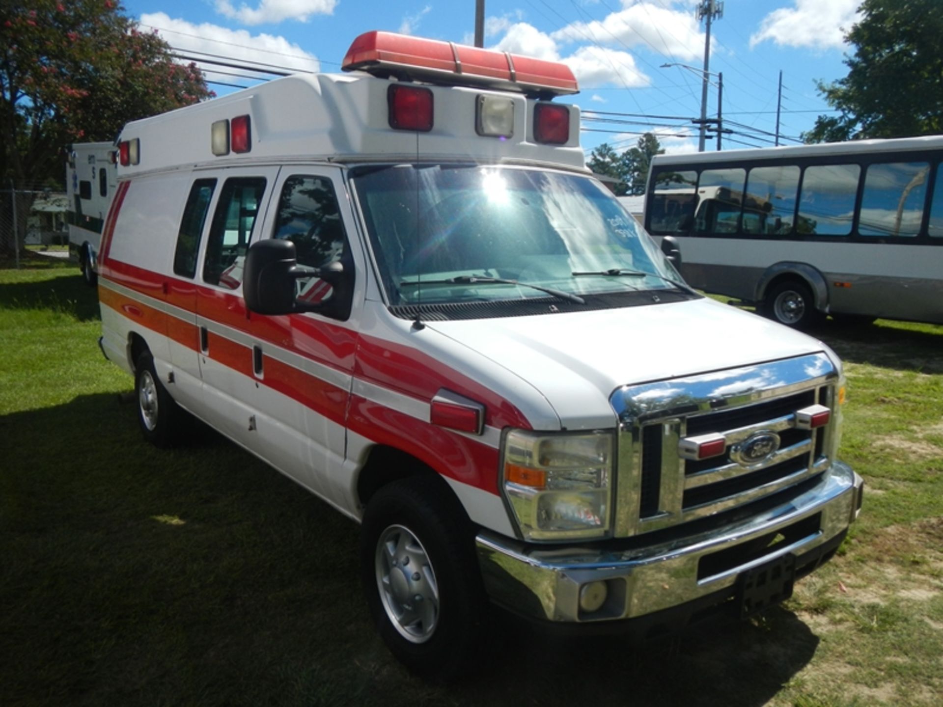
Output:
<path fill-rule="evenodd" d="M 753 48 L 762 41 L 780 46 L 835 49 L 844 46 L 846 31 L 861 15 L 861 0 L 793 0 L 795 7 L 774 9 L 750 37 Z"/>

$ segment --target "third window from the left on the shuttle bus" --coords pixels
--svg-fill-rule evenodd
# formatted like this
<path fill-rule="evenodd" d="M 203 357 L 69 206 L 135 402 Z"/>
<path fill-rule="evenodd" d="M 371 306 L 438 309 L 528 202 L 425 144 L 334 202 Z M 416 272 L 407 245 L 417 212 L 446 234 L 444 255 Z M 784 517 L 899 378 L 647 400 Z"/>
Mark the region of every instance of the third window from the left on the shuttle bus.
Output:
<path fill-rule="evenodd" d="M 792 233 L 799 174 L 796 166 L 757 167 L 750 171 L 743 203 L 744 233 L 757 236 Z"/>

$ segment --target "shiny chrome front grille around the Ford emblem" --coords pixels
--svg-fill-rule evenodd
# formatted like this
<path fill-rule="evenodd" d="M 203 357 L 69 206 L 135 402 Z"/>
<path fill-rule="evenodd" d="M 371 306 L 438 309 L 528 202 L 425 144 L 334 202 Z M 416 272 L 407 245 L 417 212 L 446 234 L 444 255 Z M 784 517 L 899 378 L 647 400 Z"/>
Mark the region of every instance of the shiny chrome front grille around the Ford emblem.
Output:
<path fill-rule="evenodd" d="M 824 470 L 835 428 L 837 372 L 825 354 L 626 386 L 612 397 L 620 417 L 616 534 L 646 533 L 736 508 Z M 803 430 L 795 413 L 832 408 L 824 427 Z M 732 455 L 755 436 L 778 448 L 755 463 Z M 685 459 L 682 439 L 722 435 L 724 452 Z M 686 452 L 687 453 L 687 452 Z"/>

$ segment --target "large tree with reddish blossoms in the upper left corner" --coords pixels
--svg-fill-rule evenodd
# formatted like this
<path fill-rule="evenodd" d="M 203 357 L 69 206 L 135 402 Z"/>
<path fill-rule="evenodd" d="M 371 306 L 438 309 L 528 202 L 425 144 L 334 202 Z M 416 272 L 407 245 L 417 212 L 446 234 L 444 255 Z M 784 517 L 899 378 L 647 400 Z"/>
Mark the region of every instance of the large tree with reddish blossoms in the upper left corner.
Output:
<path fill-rule="evenodd" d="M 61 185 L 68 143 L 114 140 L 128 121 L 211 95 L 195 65 L 175 63 L 113 0 L 0 0 L 4 187 Z M 0 234 L 0 252 L 11 247 Z"/>

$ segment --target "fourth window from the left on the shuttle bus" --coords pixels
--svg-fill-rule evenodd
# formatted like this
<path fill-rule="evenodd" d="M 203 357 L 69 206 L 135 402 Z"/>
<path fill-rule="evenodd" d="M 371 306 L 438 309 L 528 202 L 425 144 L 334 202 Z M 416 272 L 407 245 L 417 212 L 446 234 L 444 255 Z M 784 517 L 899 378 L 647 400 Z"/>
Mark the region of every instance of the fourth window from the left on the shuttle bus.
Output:
<path fill-rule="evenodd" d="M 861 168 L 856 164 L 806 167 L 796 232 L 815 236 L 848 236 L 852 232 L 854 197 Z"/>

